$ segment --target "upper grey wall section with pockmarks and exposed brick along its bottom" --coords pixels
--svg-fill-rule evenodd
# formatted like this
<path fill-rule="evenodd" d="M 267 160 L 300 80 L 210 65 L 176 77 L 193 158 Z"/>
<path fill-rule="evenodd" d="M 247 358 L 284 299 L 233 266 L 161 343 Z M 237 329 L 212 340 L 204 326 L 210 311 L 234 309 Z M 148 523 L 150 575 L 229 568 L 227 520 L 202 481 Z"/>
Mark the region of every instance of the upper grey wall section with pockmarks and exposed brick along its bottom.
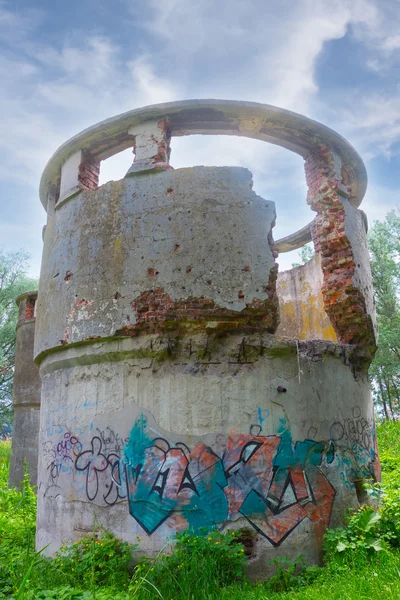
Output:
<path fill-rule="evenodd" d="M 131 176 L 57 205 L 36 355 L 139 331 L 274 331 L 275 206 L 251 187 L 247 169 L 195 167 Z"/>

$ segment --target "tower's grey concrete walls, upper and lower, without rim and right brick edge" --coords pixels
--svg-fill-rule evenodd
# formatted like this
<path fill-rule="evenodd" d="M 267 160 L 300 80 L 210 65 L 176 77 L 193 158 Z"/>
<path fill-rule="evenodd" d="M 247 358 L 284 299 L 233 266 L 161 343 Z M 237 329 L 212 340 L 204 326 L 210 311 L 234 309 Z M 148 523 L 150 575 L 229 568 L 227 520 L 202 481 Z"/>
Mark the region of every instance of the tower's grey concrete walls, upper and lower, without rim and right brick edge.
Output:
<path fill-rule="evenodd" d="M 358 346 L 270 335 L 274 221 L 227 167 L 133 171 L 49 213 L 38 548 L 96 516 L 149 555 L 187 527 L 245 529 L 255 577 L 321 559 L 379 477 L 373 405 Z"/>

